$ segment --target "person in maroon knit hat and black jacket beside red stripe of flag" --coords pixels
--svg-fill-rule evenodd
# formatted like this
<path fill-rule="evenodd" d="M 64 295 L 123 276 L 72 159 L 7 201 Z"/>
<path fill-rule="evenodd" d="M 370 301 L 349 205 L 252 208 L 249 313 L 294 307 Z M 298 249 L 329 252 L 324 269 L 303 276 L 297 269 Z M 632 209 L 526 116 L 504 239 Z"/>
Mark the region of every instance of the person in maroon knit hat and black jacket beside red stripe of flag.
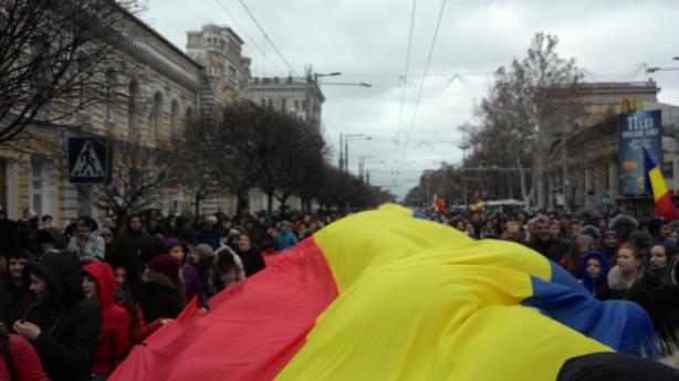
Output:
<path fill-rule="evenodd" d="M 146 324 L 161 318 L 174 319 L 184 309 L 186 300 L 179 279 L 180 267 L 179 261 L 168 254 L 158 255 L 148 263 L 139 294 Z"/>

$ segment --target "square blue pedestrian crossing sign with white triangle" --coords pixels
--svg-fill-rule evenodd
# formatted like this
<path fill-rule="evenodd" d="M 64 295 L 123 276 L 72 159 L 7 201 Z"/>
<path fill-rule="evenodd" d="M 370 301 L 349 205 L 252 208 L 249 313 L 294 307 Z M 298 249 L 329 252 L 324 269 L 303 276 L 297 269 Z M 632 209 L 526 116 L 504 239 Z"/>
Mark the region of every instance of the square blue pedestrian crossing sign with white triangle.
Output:
<path fill-rule="evenodd" d="M 108 180 L 108 145 L 103 137 L 67 139 L 71 183 L 105 183 Z"/>

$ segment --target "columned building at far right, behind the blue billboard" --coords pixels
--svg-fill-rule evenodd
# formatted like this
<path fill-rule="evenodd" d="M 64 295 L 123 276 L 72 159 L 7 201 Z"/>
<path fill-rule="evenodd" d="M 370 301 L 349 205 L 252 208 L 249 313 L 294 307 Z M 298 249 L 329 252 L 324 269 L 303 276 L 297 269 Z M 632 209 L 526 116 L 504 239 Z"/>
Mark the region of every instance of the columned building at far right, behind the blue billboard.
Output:
<path fill-rule="evenodd" d="M 638 211 L 652 209 L 651 197 L 629 197 L 619 191 L 617 115 L 625 98 L 640 102 L 643 109 L 661 112 L 662 171 L 668 188 L 679 190 L 679 107 L 657 100 L 660 88 L 655 82 L 591 83 L 587 107 L 588 127 L 570 134 L 565 146 L 552 146 L 549 162 L 550 209 L 566 207 L 571 211 L 627 205 Z M 565 183 L 565 184 L 564 184 Z"/>

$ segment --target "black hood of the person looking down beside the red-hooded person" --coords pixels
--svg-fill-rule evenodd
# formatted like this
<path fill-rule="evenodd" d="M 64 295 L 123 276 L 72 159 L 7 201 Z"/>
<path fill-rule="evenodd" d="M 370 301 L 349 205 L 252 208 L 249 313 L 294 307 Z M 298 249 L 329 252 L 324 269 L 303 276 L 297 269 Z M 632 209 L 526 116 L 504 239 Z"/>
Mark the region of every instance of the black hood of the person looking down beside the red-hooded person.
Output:
<path fill-rule="evenodd" d="M 29 261 L 27 269 L 48 282 L 52 293 L 50 299 L 55 305 L 71 306 L 84 298 L 83 272 L 75 253 L 62 251 L 38 255 Z"/>

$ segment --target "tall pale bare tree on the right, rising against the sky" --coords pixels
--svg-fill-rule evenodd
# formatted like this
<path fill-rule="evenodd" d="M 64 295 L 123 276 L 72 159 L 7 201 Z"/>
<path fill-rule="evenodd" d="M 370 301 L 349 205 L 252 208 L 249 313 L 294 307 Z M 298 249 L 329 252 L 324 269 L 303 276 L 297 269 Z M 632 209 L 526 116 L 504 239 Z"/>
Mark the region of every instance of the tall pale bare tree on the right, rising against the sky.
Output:
<path fill-rule="evenodd" d="M 474 151 L 499 155 L 503 162 L 519 168 L 524 202 L 530 205 L 536 193 L 540 208 L 546 205 L 550 145 L 585 115 L 577 96 L 583 74 L 575 60 L 558 56 L 557 43 L 555 35 L 537 33 L 525 59 L 514 60 L 509 68 L 500 67 L 490 94 L 479 106 L 480 125 L 467 130 Z"/>

